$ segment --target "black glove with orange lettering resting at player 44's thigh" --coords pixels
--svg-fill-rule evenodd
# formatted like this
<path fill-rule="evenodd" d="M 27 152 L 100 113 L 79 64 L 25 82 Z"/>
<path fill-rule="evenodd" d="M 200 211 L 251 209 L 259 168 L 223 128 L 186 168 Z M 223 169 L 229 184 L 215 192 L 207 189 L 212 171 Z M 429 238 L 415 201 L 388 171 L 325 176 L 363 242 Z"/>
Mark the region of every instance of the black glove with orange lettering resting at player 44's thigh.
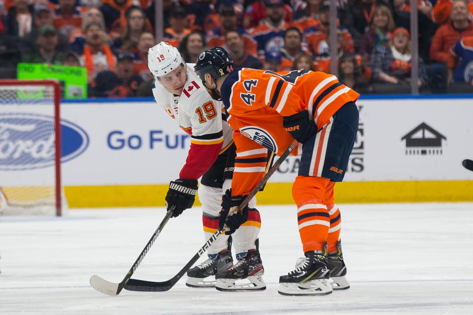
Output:
<path fill-rule="evenodd" d="M 284 116 L 282 126 L 300 143 L 304 143 L 317 133 L 317 125 L 309 118 L 307 110 L 291 116 Z"/>

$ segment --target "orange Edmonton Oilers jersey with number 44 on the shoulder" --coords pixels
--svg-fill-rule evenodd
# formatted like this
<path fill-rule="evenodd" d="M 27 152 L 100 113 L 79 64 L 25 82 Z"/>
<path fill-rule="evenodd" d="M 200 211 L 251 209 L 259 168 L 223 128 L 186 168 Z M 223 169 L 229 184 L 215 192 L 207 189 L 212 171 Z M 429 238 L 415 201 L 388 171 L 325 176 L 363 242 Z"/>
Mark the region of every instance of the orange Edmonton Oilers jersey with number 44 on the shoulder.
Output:
<path fill-rule="evenodd" d="M 225 79 L 220 93 L 236 144 L 233 195 L 249 193 L 264 176 L 265 149 L 280 156 L 294 140 L 282 126 L 283 116 L 306 109 L 320 129 L 341 106 L 359 97 L 336 76 L 305 69 L 243 68 Z"/>

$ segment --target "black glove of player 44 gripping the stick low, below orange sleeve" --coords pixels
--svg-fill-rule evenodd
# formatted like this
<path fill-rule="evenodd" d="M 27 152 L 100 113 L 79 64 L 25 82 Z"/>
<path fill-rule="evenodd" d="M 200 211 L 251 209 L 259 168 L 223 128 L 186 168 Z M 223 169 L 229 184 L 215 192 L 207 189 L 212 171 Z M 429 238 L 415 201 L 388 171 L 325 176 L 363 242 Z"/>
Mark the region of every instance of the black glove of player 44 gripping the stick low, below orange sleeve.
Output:
<path fill-rule="evenodd" d="M 238 211 L 238 206 L 243 201 L 244 196 L 232 196 L 232 189 L 227 189 L 222 197 L 222 210 L 218 214 L 218 228 L 224 230 L 226 235 L 230 235 L 248 220 L 248 206 L 243 212 Z"/>

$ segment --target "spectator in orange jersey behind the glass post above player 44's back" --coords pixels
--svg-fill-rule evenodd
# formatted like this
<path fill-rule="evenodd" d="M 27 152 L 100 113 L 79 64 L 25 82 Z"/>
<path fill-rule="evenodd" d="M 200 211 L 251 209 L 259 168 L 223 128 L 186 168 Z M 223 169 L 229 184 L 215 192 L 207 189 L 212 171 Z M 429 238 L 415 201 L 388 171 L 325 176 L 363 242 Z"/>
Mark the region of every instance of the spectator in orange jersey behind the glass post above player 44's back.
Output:
<path fill-rule="evenodd" d="M 338 29 L 343 33 L 342 50 L 354 52 L 354 44 L 348 30 L 339 25 Z M 330 3 L 324 1 L 320 6 L 319 20 L 314 22 L 314 25 L 309 26 L 304 30 L 304 38 L 307 42 L 308 49 L 313 56 L 323 55 L 328 53 L 328 46 L 326 42 L 327 34 L 330 28 Z"/>

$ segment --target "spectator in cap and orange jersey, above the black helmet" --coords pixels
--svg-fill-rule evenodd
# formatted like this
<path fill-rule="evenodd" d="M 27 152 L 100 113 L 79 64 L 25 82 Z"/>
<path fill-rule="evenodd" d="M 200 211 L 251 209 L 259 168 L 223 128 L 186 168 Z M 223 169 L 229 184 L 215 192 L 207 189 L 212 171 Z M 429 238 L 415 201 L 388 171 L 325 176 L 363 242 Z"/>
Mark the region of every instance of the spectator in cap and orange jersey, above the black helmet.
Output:
<path fill-rule="evenodd" d="M 209 32 L 206 38 L 207 46 L 213 47 L 224 47 L 225 48 L 225 34 L 230 31 L 236 31 L 240 34 L 243 39 L 245 50 L 248 54 L 257 56 L 257 44 L 253 36 L 245 31 L 240 26 L 237 26 L 238 17 L 236 15 L 235 8 L 231 3 L 222 3 L 219 7 L 219 21 L 221 27 Z"/>

